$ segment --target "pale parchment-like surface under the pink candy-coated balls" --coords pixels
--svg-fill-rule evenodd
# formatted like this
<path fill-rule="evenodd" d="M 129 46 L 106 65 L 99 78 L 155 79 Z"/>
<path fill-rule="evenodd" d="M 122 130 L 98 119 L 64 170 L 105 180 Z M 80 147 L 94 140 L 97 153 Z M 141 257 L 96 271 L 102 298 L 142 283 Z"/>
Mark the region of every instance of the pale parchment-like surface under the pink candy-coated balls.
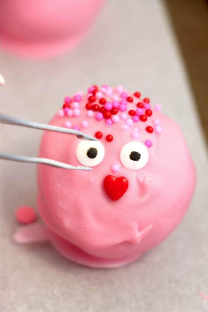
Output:
<path fill-rule="evenodd" d="M 50 244 L 12 241 L 15 209 L 36 207 L 36 167 L 2 161 L 1 310 L 208 311 L 199 295 L 208 294 L 207 155 L 162 3 L 111 0 L 85 41 L 67 55 L 29 61 L 4 52 L 1 72 L 1 111 L 39 122 L 51 119 L 65 95 L 95 83 L 141 91 L 180 125 L 197 172 L 189 212 L 166 241 L 131 265 L 93 270 L 66 260 Z M 36 155 L 41 131 L 1 128 L 2 151 Z"/>

